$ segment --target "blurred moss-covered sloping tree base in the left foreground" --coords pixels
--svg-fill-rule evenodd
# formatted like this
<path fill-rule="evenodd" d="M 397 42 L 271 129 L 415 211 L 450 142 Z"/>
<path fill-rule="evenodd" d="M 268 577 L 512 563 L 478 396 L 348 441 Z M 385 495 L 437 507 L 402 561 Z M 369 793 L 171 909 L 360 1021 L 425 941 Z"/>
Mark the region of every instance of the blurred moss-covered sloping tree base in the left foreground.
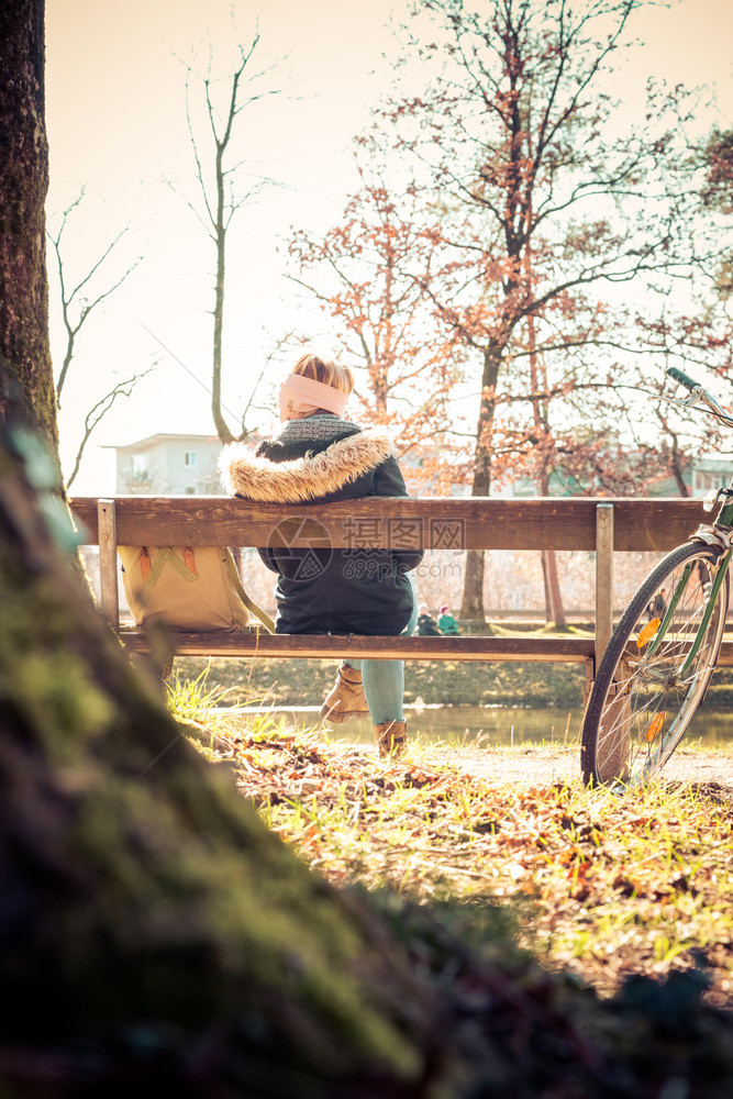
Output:
<path fill-rule="evenodd" d="M 243 1094 L 417 1094 L 433 1009 L 404 952 L 181 736 L 20 465 L 0 445 L 0 1079 L 90 1020 L 134 1062 L 146 1020 L 177 1072 L 209 1043 Z"/>

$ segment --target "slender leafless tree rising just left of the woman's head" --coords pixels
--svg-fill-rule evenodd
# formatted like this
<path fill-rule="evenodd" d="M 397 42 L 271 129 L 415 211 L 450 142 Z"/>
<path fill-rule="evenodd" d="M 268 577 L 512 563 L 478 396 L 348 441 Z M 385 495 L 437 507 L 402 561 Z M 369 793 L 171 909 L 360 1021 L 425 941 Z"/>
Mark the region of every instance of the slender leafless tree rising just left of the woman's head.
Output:
<path fill-rule="evenodd" d="M 251 179 L 243 191 L 237 189 L 241 168 L 246 159 L 230 164 L 236 122 L 243 111 L 267 96 L 278 95 L 279 89 L 263 88 L 270 69 L 253 70 L 253 57 L 259 45 L 256 33 L 248 46 L 240 45 L 238 63 L 223 80 L 211 75 L 211 60 L 206 76 L 197 76 L 191 66 L 186 66 L 186 119 L 188 133 L 196 160 L 196 178 L 200 191 L 200 204 L 187 200 L 187 206 L 206 229 L 214 246 L 216 262 L 214 276 L 213 345 L 211 364 L 211 413 L 222 443 L 231 443 L 243 437 L 244 426 L 238 435 L 229 426 L 222 406 L 222 342 L 224 332 L 224 289 L 226 278 L 226 240 L 234 215 L 251 202 L 263 187 L 271 180 L 263 177 Z M 191 79 L 200 81 L 204 104 L 202 133 L 197 133 L 191 111 Z M 219 85 L 225 88 L 220 93 Z M 223 101 L 219 107 L 218 100 Z"/>

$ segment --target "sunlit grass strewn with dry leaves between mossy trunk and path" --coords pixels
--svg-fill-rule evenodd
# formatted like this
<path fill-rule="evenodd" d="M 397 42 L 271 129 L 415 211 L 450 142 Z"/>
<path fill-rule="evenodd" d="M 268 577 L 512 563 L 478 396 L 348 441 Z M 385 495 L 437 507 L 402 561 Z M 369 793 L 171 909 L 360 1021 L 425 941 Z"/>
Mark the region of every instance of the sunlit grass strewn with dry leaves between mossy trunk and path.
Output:
<path fill-rule="evenodd" d="M 211 697 L 197 682 L 180 688 L 187 707 Z M 521 946 L 602 995 L 630 974 L 702 965 L 712 1002 L 733 1003 L 733 823 L 713 788 L 662 778 L 619 797 L 579 781 L 502 782 L 463 774 L 445 746 L 418 740 L 384 762 L 267 713 L 233 717 L 218 734 L 213 755 L 229 758 L 243 796 L 333 884 L 388 887 L 469 925 L 499 906 Z M 731 747 L 680 751 L 693 747 L 730 766 Z M 503 756 L 524 752 L 487 756 L 500 774 Z"/>

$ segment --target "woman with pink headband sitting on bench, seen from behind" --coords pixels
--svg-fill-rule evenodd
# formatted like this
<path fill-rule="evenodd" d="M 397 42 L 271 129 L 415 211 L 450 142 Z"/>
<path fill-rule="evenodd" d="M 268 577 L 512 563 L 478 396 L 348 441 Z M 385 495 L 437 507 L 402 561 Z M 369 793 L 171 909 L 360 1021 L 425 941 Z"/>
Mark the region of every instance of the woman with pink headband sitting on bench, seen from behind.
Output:
<path fill-rule="evenodd" d="M 408 496 L 385 429 L 362 429 L 344 419 L 353 388 L 347 367 L 303 355 L 280 386 L 278 434 L 254 452 L 241 443 L 224 449 L 229 490 L 247 500 L 296 504 Z M 299 518 L 301 526 L 308 522 Z M 278 575 L 277 633 L 374 636 L 412 629 L 409 570 L 420 564 L 422 551 L 291 547 L 284 544 L 287 528 L 276 531 L 279 536 L 258 553 Z M 369 713 L 379 753 L 397 754 L 407 746 L 403 688 L 402 660 L 348 657 L 321 713 L 335 722 Z"/>

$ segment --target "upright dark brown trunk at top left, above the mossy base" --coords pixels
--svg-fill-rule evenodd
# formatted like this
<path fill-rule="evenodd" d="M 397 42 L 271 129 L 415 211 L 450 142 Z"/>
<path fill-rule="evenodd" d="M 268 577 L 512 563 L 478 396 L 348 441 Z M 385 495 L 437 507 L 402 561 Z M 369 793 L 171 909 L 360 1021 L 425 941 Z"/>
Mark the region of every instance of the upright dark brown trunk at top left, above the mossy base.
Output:
<path fill-rule="evenodd" d="M 56 393 L 48 344 L 44 5 L 0 4 L 0 418 L 48 447 L 57 473 Z"/>

